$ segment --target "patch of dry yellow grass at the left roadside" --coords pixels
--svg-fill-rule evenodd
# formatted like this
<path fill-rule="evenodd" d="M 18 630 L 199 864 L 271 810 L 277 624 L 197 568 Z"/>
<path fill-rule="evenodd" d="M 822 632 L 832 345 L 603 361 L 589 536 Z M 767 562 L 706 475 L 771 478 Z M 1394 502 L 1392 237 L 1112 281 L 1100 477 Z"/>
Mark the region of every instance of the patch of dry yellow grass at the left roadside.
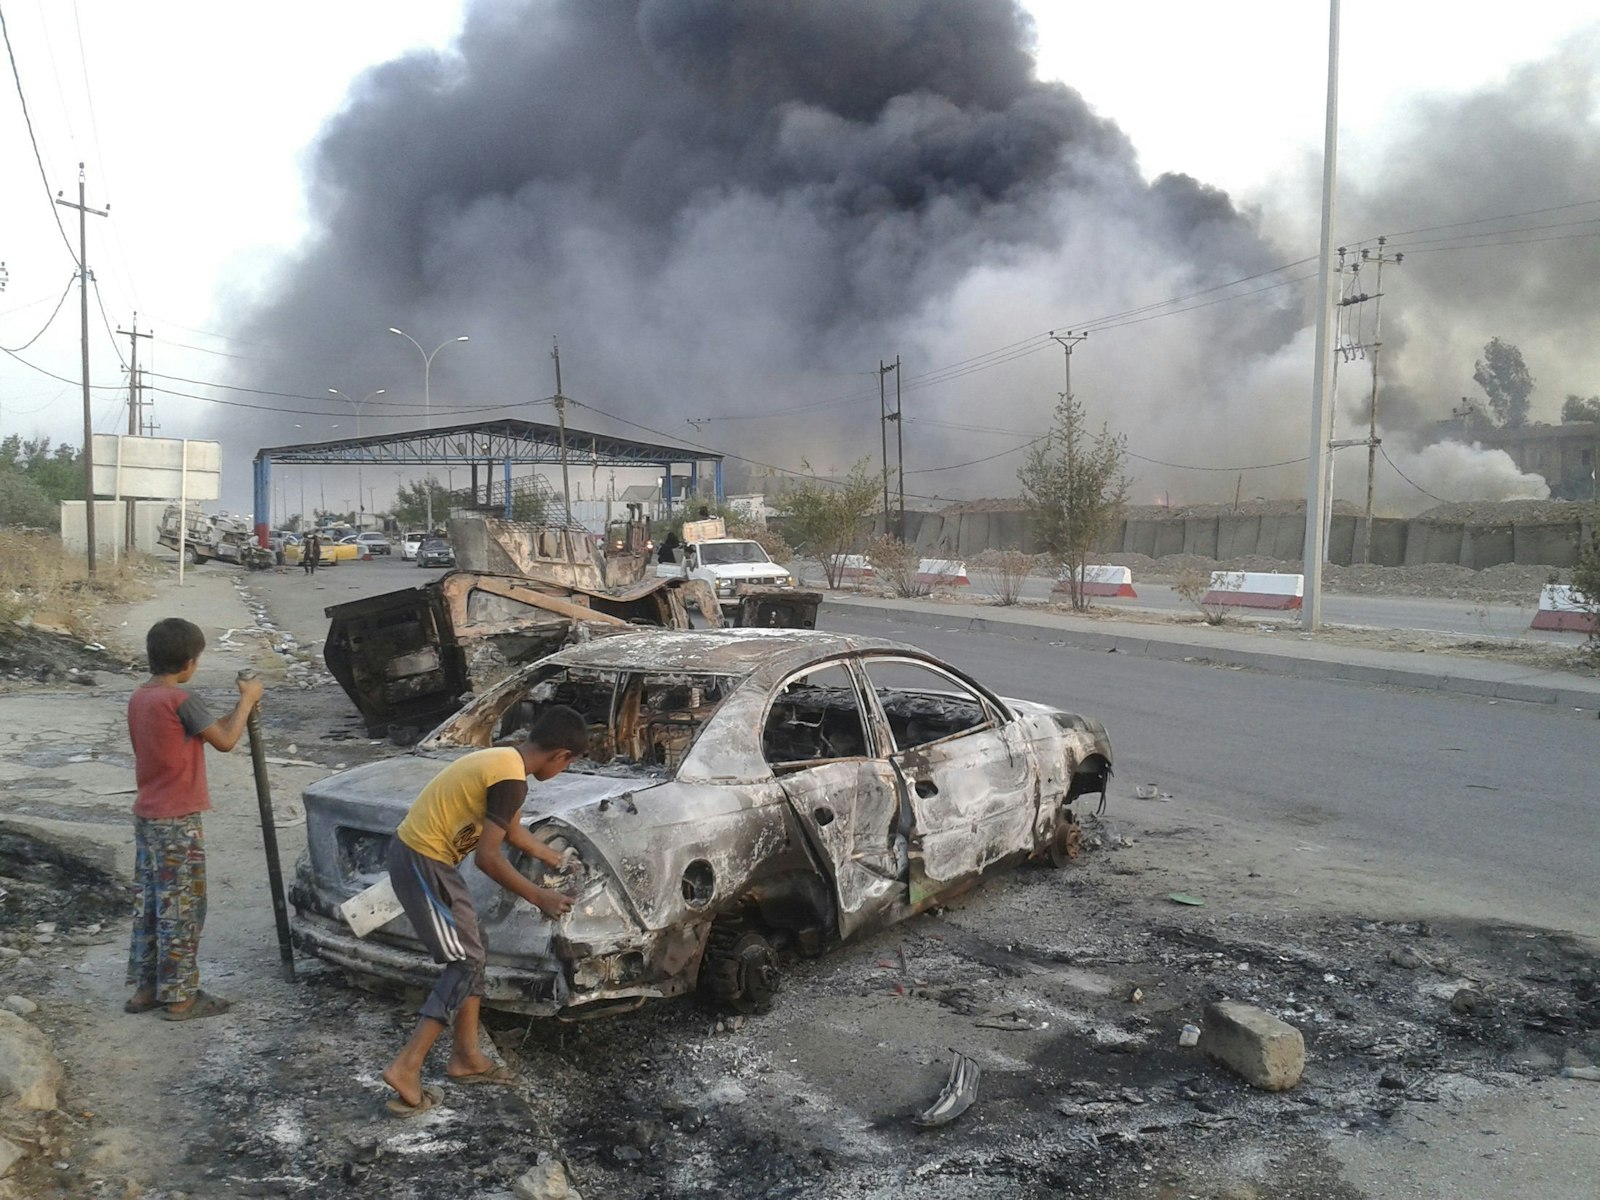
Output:
<path fill-rule="evenodd" d="M 158 565 L 146 554 L 122 555 L 120 562 L 96 563 L 88 582 L 88 563 L 61 546 L 53 533 L 0 528 L 0 621 L 30 622 L 74 637 L 99 632 L 106 605 L 149 595 L 144 579 Z"/>

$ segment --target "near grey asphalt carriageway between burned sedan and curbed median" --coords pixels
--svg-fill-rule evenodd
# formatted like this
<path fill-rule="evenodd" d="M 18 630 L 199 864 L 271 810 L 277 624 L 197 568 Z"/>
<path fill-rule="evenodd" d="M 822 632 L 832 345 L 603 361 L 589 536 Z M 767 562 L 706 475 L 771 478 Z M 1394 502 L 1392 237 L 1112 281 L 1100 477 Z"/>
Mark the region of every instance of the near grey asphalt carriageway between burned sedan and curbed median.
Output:
<path fill-rule="evenodd" d="M 250 582 L 310 642 L 326 634 L 323 606 L 438 574 L 395 558 Z M 1002 694 L 1099 717 L 1118 752 L 1114 811 L 1138 811 L 1134 786 L 1154 782 L 1235 832 L 1301 843 L 1320 864 L 1362 862 L 1424 891 L 1437 882 L 1485 917 L 1600 934 L 1592 717 L 874 618 L 830 614 L 827 626 L 912 642 Z"/>

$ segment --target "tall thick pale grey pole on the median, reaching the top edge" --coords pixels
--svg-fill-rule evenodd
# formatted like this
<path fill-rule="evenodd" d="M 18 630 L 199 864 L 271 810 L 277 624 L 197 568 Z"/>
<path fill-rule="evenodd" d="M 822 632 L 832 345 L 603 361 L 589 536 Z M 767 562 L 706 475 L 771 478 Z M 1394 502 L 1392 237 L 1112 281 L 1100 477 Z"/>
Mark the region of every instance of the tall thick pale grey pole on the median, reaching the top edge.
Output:
<path fill-rule="evenodd" d="M 1333 326 L 1333 213 L 1339 149 L 1339 0 L 1328 0 L 1328 110 L 1322 150 L 1322 246 L 1317 264 L 1317 362 L 1312 371 L 1310 472 L 1306 480 L 1306 597 L 1301 626 L 1322 627 L 1323 506 L 1328 482 L 1328 357 Z"/>

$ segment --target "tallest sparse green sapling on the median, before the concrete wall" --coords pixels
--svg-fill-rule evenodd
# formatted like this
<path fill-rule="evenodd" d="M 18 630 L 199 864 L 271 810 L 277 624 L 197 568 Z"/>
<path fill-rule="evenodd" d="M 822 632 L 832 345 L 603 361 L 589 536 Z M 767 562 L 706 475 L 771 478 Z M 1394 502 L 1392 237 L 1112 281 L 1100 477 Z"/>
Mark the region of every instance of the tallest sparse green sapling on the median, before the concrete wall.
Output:
<path fill-rule="evenodd" d="M 1128 478 L 1122 474 L 1125 461 L 1125 438 L 1106 426 L 1090 438 L 1083 405 L 1062 395 L 1050 432 L 1034 443 L 1016 475 L 1038 542 L 1064 571 L 1077 611 L 1090 606 L 1083 594 L 1083 568 L 1128 499 Z"/>

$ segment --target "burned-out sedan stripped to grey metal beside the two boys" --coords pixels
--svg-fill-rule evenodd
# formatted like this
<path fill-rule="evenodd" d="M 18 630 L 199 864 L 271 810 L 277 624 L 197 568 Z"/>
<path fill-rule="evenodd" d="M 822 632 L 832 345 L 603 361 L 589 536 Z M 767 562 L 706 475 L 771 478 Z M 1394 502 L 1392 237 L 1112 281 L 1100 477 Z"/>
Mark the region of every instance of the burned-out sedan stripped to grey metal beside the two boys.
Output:
<path fill-rule="evenodd" d="M 442 763 L 586 715 L 590 755 L 534 786 L 522 819 L 574 877 L 514 858 L 573 910 L 549 922 L 469 859 L 488 944 L 485 1003 L 587 1016 L 701 987 L 771 1003 L 786 950 L 910 917 L 1027 858 L 1075 850 L 1080 795 L 1104 802 L 1101 723 L 1002 699 L 912 646 L 814 630 L 624 634 L 520 669 L 413 754 L 306 790 L 293 888 L 299 946 L 357 976 L 429 984 L 405 917 L 357 938 L 347 898 L 379 882 L 389 837 Z"/>

